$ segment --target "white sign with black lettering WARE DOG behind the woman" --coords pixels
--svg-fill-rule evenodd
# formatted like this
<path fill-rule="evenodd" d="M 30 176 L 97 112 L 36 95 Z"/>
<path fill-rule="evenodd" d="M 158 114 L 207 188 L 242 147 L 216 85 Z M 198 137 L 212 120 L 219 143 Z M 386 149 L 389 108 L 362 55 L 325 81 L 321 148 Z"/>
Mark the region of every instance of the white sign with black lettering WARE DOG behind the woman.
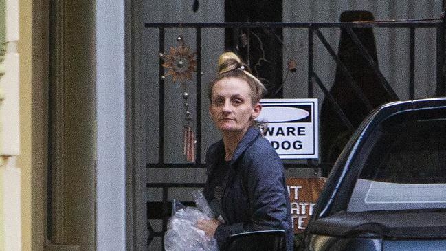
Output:
<path fill-rule="evenodd" d="M 256 119 L 266 122 L 265 138 L 282 159 L 319 157 L 317 98 L 263 99 Z"/>

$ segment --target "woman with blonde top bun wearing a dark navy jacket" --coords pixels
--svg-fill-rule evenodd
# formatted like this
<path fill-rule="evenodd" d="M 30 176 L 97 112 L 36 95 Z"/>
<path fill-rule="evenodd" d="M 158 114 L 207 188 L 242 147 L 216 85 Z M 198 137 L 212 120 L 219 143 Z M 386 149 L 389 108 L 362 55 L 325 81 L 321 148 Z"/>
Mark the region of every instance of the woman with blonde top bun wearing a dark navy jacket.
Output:
<path fill-rule="evenodd" d="M 265 87 L 232 52 L 219 58 L 219 74 L 209 88 L 209 112 L 223 140 L 206 154 L 205 198 L 217 219 L 197 227 L 214 237 L 220 250 L 232 234 L 283 229 L 293 249 L 289 195 L 282 162 L 254 128 Z"/>

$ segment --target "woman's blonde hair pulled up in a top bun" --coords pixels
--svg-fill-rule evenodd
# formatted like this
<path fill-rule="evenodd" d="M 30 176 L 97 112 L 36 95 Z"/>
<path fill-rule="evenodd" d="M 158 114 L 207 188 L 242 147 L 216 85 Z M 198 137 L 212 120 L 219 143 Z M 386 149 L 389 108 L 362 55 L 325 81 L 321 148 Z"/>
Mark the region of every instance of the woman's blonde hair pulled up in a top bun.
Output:
<path fill-rule="evenodd" d="M 265 86 L 249 72 L 248 66 L 234 52 L 225 52 L 219 56 L 218 74 L 210 83 L 208 98 L 212 103 L 212 88 L 223 78 L 239 78 L 245 80 L 251 89 L 252 104 L 257 104 L 266 92 Z"/>

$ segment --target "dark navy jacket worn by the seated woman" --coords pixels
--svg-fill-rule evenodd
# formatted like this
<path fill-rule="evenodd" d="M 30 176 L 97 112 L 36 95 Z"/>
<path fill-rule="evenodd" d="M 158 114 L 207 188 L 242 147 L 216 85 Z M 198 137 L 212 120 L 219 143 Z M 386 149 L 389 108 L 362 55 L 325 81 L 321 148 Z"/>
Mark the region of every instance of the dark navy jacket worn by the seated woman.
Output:
<path fill-rule="evenodd" d="M 231 234 L 254 230 L 283 229 L 287 232 L 287 250 L 293 250 L 293 228 L 289 195 L 282 161 L 260 131 L 249 128 L 239 142 L 232 160 L 222 167 L 223 140 L 212 144 L 206 153 L 208 181 L 205 198 L 216 217 L 225 223 L 214 234 L 221 250 Z M 218 168 L 225 168 L 217 170 Z M 223 173 L 223 175 L 222 175 Z M 221 183 L 221 201 L 216 203 L 216 186 Z M 218 205 L 220 208 L 215 208 Z"/>

